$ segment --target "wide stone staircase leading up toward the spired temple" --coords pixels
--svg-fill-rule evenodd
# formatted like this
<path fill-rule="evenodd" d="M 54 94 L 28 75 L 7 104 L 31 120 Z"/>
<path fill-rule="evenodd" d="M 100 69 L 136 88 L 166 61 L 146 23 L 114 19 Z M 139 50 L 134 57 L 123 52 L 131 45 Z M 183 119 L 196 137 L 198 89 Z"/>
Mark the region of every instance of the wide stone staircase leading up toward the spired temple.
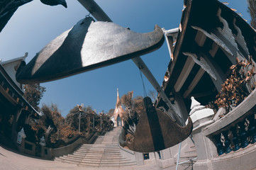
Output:
<path fill-rule="evenodd" d="M 132 167 L 136 162 L 123 157 L 118 147 L 118 136 L 122 128 L 114 128 L 106 135 L 98 137 L 94 145 L 84 144 L 73 154 L 56 157 L 56 162 L 77 164 L 93 168 Z"/>

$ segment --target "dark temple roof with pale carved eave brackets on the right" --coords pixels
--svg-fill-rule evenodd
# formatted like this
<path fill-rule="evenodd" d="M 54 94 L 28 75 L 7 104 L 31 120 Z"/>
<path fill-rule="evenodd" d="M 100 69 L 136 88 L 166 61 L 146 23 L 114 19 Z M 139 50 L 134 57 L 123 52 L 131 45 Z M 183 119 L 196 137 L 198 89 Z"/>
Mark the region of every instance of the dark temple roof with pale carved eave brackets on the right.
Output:
<path fill-rule="evenodd" d="M 173 60 L 169 62 L 162 89 L 169 98 L 182 98 L 186 106 L 183 108 L 187 108 L 183 112 L 188 112 L 191 96 L 202 105 L 215 100 L 236 57 L 252 55 L 256 60 L 256 33 L 220 1 L 185 0 L 184 5 L 177 42 L 169 43 Z M 167 38 L 175 39 L 168 34 Z M 213 63 L 212 69 L 206 69 L 203 62 Z M 160 96 L 155 106 L 167 108 Z"/>

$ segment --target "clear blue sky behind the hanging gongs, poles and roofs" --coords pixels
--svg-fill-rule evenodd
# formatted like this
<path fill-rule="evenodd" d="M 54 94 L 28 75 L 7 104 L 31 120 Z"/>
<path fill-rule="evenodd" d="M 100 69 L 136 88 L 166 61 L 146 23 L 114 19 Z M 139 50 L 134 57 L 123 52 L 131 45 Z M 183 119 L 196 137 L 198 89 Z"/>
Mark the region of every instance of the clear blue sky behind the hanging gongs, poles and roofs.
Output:
<path fill-rule="evenodd" d="M 39 0 L 18 8 L 0 33 L 0 58 L 3 61 L 11 60 L 28 52 L 28 63 L 50 40 L 89 14 L 78 1 L 66 1 L 67 8 L 46 6 Z M 230 8 L 237 9 L 250 22 L 246 0 L 227 2 Z M 96 0 L 96 3 L 114 23 L 138 33 L 152 31 L 155 24 L 166 30 L 179 27 L 183 8 L 182 0 Z M 143 55 L 142 59 L 161 85 L 169 63 L 166 42 L 159 50 Z M 154 90 L 148 80 L 145 77 L 143 79 L 146 91 Z M 120 96 L 128 91 L 134 91 L 134 96 L 143 96 L 140 73 L 131 60 L 43 83 L 41 86 L 46 87 L 46 92 L 40 106 L 42 103 L 56 103 L 63 116 L 81 103 L 96 109 L 97 113 L 108 112 L 110 108 L 115 108 L 117 88 Z"/>

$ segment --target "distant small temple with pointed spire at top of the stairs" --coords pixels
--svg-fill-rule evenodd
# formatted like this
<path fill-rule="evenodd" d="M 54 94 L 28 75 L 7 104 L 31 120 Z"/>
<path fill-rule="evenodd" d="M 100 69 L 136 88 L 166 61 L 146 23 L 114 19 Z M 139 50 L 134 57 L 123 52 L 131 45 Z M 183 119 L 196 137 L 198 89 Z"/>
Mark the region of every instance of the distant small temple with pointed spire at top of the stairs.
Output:
<path fill-rule="evenodd" d="M 119 98 L 119 93 L 117 89 L 117 98 L 116 98 L 116 108 L 115 111 L 113 111 L 113 116 L 111 117 L 111 120 L 113 122 L 113 127 L 123 126 L 123 119 L 124 119 L 124 113 L 123 107 L 121 105 L 121 100 Z"/>

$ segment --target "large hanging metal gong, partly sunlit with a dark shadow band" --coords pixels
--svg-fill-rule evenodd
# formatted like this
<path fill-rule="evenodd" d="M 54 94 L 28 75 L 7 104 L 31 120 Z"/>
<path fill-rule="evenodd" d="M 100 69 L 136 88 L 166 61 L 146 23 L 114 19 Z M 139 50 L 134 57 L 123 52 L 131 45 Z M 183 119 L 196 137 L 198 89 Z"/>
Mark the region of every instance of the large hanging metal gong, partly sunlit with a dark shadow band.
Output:
<path fill-rule="evenodd" d="M 27 65 L 23 62 L 16 79 L 22 84 L 62 79 L 145 55 L 161 47 L 164 40 L 159 26 L 150 33 L 135 33 L 87 17 L 52 40 Z"/>

